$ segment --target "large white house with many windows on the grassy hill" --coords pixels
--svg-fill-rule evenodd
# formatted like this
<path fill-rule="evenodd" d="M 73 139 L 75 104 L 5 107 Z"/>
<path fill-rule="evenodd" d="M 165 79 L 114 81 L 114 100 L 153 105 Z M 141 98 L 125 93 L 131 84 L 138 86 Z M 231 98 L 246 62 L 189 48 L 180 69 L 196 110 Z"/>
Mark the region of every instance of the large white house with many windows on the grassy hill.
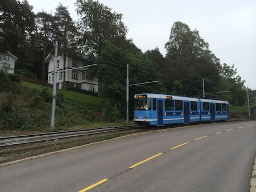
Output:
<path fill-rule="evenodd" d="M 55 56 L 52 53 L 46 57 L 48 62 L 48 84 L 53 85 L 53 70 Z M 65 87 L 89 90 L 98 92 L 98 78 L 89 73 L 86 65 L 92 62 L 86 56 L 66 57 L 65 62 Z M 80 68 L 85 66 L 84 68 Z M 79 69 L 77 69 L 79 68 Z M 63 89 L 64 86 L 64 58 L 57 56 L 57 89 Z"/>

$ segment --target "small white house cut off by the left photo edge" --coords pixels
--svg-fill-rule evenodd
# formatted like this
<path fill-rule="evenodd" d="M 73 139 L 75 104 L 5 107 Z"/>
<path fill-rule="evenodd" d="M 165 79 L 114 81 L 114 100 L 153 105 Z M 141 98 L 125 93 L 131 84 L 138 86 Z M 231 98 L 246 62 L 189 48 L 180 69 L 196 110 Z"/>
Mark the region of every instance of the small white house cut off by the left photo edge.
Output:
<path fill-rule="evenodd" d="M 16 60 L 18 60 L 18 58 L 9 51 L 7 51 L 7 53 L 0 53 L 0 69 L 8 69 L 7 73 L 14 73 Z"/>

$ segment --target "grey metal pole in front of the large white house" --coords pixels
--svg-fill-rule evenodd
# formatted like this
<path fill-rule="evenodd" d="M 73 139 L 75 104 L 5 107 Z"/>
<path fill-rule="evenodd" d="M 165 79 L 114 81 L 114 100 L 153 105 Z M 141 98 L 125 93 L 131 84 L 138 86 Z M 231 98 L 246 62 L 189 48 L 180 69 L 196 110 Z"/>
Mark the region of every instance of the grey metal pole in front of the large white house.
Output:
<path fill-rule="evenodd" d="M 52 116 L 50 131 L 54 130 L 55 125 L 55 110 L 56 110 L 56 89 L 57 89 L 57 55 L 58 55 L 58 41 L 55 41 L 55 57 L 53 70 L 53 90 L 52 90 Z"/>

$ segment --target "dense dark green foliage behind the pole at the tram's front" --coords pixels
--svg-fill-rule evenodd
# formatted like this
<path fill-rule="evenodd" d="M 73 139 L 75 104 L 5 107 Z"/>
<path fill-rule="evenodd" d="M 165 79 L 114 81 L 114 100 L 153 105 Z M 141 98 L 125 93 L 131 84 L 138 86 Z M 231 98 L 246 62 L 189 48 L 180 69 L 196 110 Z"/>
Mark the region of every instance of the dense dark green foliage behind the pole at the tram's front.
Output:
<path fill-rule="evenodd" d="M 107 43 L 99 57 L 99 64 L 95 69 L 98 77 L 102 80 L 102 97 L 110 98 L 110 103 L 114 105 L 116 102 L 121 103 L 122 116 L 126 113 L 126 76 L 127 64 L 129 64 L 129 84 L 141 82 L 156 81 L 160 79 L 160 72 L 155 62 L 148 59 L 145 53 L 137 52 L 136 55 L 118 48 L 112 43 Z M 104 62 L 108 61 L 108 62 Z M 129 87 L 130 101 L 133 101 L 135 93 L 145 92 L 164 92 L 164 88 L 160 83 L 144 84 L 139 86 Z M 130 107 L 133 108 L 133 102 L 130 102 Z"/>

